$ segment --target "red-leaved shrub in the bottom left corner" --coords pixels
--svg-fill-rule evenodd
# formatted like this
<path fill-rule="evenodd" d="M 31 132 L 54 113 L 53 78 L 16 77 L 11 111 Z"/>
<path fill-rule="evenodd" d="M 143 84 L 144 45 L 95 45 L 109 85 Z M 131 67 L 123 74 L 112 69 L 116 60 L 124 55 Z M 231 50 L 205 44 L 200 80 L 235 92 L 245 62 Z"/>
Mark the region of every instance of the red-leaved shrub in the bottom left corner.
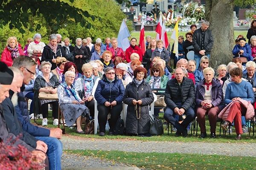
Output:
<path fill-rule="evenodd" d="M 7 144 L 0 142 L 0 169 L 1 170 L 41 170 L 43 164 L 37 162 L 34 156 L 24 147 L 14 146 L 11 139 Z"/>

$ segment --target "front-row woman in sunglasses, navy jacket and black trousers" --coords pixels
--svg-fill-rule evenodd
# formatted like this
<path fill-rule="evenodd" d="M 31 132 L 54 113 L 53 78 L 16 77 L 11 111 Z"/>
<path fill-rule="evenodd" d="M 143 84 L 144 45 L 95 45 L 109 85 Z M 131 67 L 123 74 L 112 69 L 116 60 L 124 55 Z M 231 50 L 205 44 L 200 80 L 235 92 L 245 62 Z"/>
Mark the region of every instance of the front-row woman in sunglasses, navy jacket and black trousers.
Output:
<path fill-rule="evenodd" d="M 98 102 L 99 136 L 105 136 L 105 126 L 109 122 L 109 135 L 113 135 L 117 119 L 122 111 L 122 98 L 125 88 L 120 79 L 116 78 L 115 70 L 112 67 L 105 68 L 103 79 L 95 91 L 95 99 Z M 108 114 L 111 118 L 108 119 Z"/>

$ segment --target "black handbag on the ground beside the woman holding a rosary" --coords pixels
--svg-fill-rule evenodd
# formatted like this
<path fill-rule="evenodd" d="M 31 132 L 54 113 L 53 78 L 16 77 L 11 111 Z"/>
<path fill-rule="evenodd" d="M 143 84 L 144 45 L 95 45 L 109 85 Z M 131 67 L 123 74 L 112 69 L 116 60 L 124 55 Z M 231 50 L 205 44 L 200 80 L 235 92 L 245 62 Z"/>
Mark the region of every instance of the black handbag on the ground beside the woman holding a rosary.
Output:
<path fill-rule="evenodd" d="M 149 133 L 151 135 L 162 135 L 163 134 L 163 122 L 162 120 L 158 119 L 157 116 L 152 115 L 153 118 L 151 116 L 150 117 L 150 131 Z"/>

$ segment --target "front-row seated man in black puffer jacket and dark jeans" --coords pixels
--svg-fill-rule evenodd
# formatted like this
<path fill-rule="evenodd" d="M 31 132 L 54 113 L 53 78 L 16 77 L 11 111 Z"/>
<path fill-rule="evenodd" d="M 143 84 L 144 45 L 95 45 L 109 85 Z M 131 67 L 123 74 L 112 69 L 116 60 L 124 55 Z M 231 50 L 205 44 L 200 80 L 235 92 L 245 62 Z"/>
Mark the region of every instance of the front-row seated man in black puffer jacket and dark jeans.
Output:
<path fill-rule="evenodd" d="M 195 111 L 192 108 L 195 101 L 195 85 L 192 79 L 186 78 L 186 70 L 177 68 L 175 78 L 167 82 L 164 101 L 166 102 L 166 111 L 164 118 L 177 128 L 176 136 L 188 136 L 186 127 L 195 118 Z M 175 114 L 186 114 L 182 123 L 175 119 Z"/>

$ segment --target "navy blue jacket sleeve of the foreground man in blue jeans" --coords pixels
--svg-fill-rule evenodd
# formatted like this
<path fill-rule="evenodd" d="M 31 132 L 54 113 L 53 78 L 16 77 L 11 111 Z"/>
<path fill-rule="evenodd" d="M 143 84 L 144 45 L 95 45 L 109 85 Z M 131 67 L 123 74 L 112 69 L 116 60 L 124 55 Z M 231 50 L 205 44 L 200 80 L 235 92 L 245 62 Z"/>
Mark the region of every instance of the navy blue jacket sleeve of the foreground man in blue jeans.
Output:
<path fill-rule="evenodd" d="M 49 129 L 38 127 L 30 123 L 28 107 L 22 91 L 18 93 L 18 105 L 15 106 L 15 111 L 24 131 L 32 136 L 50 136 Z"/>

